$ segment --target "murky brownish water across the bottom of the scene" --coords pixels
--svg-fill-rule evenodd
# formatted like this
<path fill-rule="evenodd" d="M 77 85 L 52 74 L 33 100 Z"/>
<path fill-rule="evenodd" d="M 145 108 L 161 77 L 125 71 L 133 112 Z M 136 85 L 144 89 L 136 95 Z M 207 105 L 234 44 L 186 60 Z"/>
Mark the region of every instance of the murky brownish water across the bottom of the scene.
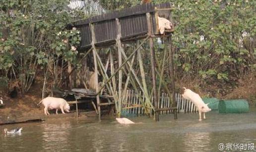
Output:
<path fill-rule="evenodd" d="M 47 121 L 0 126 L 23 127 L 20 135 L 0 135 L 0 152 L 216 152 L 219 143 L 256 144 L 256 109 L 244 114 L 160 115 L 160 122 L 133 117 L 137 124 Z M 256 148 L 255 148 L 256 149 Z M 233 149 L 234 150 L 234 149 Z"/>

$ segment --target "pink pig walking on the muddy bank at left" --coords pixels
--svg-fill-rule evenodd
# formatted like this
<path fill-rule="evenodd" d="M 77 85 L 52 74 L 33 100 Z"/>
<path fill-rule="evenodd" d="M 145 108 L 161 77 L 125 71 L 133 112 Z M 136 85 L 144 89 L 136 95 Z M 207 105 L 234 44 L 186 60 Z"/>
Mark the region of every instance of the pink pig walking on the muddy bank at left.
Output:
<path fill-rule="evenodd" d="M 42 103 L 44 105 L 44 112 L 45 115 L 50 114 L 48 112 L 48 108 L 50 110 L 56 109 L 56 114 L 58 114 L 58 110 L 61 109 L 62 113 L 69 112 L 70 106 L 69 104 L 62 98 L 54 98 L 54 97 L 47 97 L 40 101 L 37 105 Z"/>

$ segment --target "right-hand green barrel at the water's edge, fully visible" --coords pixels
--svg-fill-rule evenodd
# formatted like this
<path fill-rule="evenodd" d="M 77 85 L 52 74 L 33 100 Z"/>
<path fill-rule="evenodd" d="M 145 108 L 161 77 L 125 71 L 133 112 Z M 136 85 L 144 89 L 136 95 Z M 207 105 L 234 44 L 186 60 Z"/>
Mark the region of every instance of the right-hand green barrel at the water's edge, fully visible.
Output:
<path fill-rule="evenodd" d="M 249 112 L 249 104 L 246 100 L 219 101 L 219 113 L 245 113 Z"/>

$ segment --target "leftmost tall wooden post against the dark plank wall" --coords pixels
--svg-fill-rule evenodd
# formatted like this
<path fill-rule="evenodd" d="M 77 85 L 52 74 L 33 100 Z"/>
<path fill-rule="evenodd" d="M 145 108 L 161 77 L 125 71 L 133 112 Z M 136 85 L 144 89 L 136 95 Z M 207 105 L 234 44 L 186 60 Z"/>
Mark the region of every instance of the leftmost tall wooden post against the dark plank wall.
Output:
<path fill-rule="evenodd" d="M 97 57 L 96 57 L 96 48 L 94 46 L 95 44 L 95 33 L 94 33 L 94 27 L 93 24 L 90 24 L 91 27 L 91 33 L 92 33 L 92 52 L 93 52 L 93 61 L 94 61 L 94 71 L 95 71 L 95 90 L 96 92 L 99 92 L 99 79 L 98 79 L 98 65 L 97 65 Z M 98 118 L 99 121 L 101 121 L 101 111 L 100 111 L 100 97 L 99 95 L 96 95 L 97 100 L 97 106 L 98 106 Z"/>

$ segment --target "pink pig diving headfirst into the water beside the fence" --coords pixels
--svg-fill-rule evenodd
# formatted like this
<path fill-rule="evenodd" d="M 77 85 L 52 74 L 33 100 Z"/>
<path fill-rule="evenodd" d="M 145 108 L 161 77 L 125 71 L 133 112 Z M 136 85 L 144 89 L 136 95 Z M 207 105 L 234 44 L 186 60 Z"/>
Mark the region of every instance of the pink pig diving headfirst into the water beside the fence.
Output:
<path fill-rule="evenodd" d="M 186 100 L 192 101 L 194 103 L 194 105 L 197 107 L 198 113 L 199 113 L 199 121 L 202 121 L 201 113 L 203 113 L 203 119 L 206 119 L 205 112 L 211 111 L 211 109 L 208 107 L 207 104 L 205 104 L 202 101 L 201 97 L 198 94 L 192 92 L 190 89 L 186 89 L 185 87 L 184 87 L 184 89 L 185 89 L 185 91 L 184 91 L 182 97 Z"/>

